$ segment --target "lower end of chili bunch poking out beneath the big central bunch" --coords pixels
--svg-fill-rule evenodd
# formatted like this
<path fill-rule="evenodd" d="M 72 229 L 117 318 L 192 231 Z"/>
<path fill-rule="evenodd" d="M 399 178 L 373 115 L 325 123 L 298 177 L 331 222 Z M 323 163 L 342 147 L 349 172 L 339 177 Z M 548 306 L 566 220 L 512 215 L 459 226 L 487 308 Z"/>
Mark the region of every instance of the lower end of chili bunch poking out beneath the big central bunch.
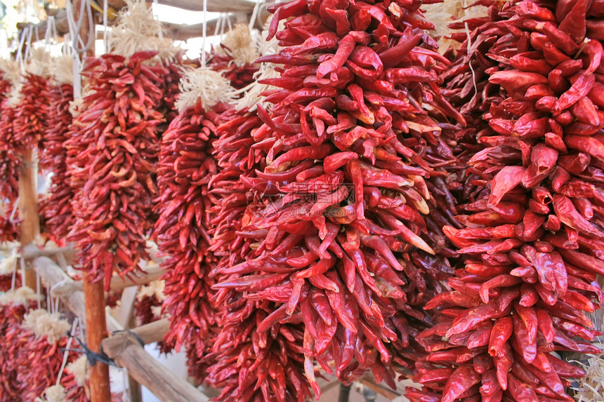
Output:
<path fill-rule="evenodd" d="M 276 307 L 254 305 L 235 292 L 223 302 L 225 319 L 211 353 L 199 363 L 211 361 L 206 380 L 221 388 L 219 401 L 298 401 L 310 396 L 303 370 L 300 314 L 277 324 L 268 332 L 256 329 Z M 220 299 L 219 299 L 220 300 Z M 198 363 L 198 364 L 199 364 Z M 312 368 L 310 370 L 313 370 Z"/>

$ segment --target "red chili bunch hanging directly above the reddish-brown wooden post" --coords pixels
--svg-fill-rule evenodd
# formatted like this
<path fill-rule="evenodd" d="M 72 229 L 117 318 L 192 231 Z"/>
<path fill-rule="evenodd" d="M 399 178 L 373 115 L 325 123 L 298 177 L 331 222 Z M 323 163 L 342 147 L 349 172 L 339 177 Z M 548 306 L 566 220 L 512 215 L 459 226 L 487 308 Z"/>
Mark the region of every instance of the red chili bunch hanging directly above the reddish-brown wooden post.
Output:
<path fill-rule="evenodd" d="M 76 221 L 68 239 L 81 249 L 82 268 L 109 288 L 113 272 L 136 272 L 148 259 L 145 236 L 157 159 L 155 110 L 162 97 L 164 67 L 146 65 L 155 52 L 139 52 L 126 59 L 103 55 L 88 60 L 84 72 L 91 92 L 74 121 L 86 148 L 78 149 L 78 166 L 70 166 L 74 179 L 85 181 L 74 203 Z M 85 168 L 79 168 L 84 166 Z"/>

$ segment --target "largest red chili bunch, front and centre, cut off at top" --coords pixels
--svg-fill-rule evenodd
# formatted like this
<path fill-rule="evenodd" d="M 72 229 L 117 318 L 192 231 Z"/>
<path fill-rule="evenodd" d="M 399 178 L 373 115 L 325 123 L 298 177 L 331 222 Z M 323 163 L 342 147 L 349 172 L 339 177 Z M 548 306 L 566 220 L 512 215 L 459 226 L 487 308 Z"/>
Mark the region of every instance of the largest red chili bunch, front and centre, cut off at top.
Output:
<path fill-rule="evenodd" d="M 258 196 L 242 219 L 252 249 L 215 287 L 278 303 L 259 334 L 302 314 L 317 395 L 315 359 L 344 382 L 371 369 L 394 386 L 393 363 L 419 359 L 413 337 L 430 325 L 421 311 L 436 289 L 427 272 L 450 272 L 444 257 L 431 257 L 438 244 L 422 215 L 432 168 L 415 149 L 438 143 L 440 132 L 424 96 L 434 93 L 441 116 L 457 114 L 428 85 L 447 60 L 420 32 L 429 23 L 419 6 L 280 4 L 269 38 L 284 49 L 259 59 L 284 66 L 280 78 L 260 81 L 282 89 L 268 91 L 270 113 L 258 107 L 264 124 L 253 149 L 266 158 L 242 177 Z"/>

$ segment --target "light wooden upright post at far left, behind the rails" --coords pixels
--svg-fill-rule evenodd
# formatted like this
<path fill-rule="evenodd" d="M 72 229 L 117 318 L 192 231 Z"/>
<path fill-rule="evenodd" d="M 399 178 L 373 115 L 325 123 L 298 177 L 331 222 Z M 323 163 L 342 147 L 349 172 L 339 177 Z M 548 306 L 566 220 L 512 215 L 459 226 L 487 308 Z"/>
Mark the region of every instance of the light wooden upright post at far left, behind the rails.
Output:
<path fill-rule="evenodd" d="M 19 178 L 19 217 L 21 219 L 21 247 L 25 248 L 33 243 L 40 234 L 37 166 L 32 149 L 27 149 L 23 155 L 23 166 Z M 31 269 L 26 269 L 24 275 L 23 286 L 36 290 L 36 273 Z"/>

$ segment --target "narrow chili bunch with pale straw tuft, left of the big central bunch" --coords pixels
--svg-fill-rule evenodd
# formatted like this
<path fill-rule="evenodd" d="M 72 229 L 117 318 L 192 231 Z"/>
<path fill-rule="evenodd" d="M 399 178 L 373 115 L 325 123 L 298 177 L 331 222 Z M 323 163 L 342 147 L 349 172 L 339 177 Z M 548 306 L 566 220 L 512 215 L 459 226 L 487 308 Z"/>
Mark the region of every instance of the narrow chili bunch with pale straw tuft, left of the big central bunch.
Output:
<path fill-rule="evenodd" d="M 155 211 L 159 219 L 154 238 L 160 252 L 167 255 L 163 311 L 170 314 L 171 326 L 164 340 L 179 350 L 186 345 L 189 359 L 204 354 L 209 330 L 216 324 L 209 303 L 208 272 L 214 257 L 209 252 L 213 205 L 208 183 L 216 174 L 211 156 L 214 121 L 218 114 L 204 109 L 230 99 L 228 81 L 210 69 L 191 69 L 180 83 L 182 93 L 176 106 L 179 114 L 162 135 L 157 178 L 160 196 Z M 221 105 L 216 106 L 218 111 Z"/>

